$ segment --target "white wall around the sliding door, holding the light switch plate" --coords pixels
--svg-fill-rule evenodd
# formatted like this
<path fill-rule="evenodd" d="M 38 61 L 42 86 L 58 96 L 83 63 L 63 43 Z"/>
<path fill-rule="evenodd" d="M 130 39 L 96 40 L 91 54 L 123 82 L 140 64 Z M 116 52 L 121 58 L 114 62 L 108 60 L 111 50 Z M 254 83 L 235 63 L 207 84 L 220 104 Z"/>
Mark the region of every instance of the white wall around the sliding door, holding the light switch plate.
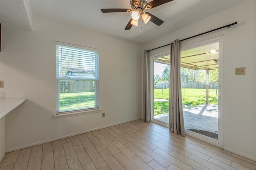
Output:
<path fill-rule="evenodd" d="M 232 28 L 201 36 L 224 35 L 223 133 L 224 149 L 256 160 L 256 1 L 247 1 L 197 21 L 143 45 L 154 49 L 174 39 L 184 39 L 238 22 Z M 198 39 L 198 38 L 194 38 Z M 235 75 L 236 67 L 246 74 Z"/>

